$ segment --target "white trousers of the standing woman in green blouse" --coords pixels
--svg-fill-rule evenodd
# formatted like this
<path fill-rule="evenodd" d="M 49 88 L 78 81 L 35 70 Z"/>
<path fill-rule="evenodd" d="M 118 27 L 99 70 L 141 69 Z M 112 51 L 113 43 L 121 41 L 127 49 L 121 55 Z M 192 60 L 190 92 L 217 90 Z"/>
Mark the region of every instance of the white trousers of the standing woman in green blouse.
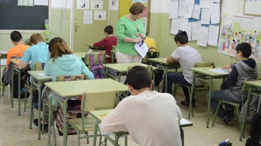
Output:
<path fill-rule="evenodd" d="M 115 53 L 117 63 L 141 63 L 142 57 L 140 55 L 127 55 L 127 54 L 122 54 L 119 51 Z M 120 77 L 120 82 L 124 83 L 126 80 L 126 76 L 121 76 Z M 116 78 L 116 81 L 118 79 Z"/>

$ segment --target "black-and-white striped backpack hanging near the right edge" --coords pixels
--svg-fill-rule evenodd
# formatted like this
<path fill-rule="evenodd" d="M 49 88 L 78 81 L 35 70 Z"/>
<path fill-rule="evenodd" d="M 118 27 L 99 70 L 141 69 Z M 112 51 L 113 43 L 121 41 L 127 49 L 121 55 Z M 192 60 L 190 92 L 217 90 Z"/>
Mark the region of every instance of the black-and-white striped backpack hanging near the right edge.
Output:
<path fill-rule="evenodd" d="M 253 88 L 252 91 L 260 94 L 260 91 L 257 90 L 257 88 Z M 252 94 L 250 95 L 248 110 L 246 112 L 246 122 L 245 122 L 246 124 L 251 124 L 252 118 L 257 112 L 258 101 L 259 101 L 259 96 L 252 95 Z M 245 111 L 246 111 L 246 102 L 243 104 L 243 106 L 239 111 L 241 122 L 243 122 Z"/>

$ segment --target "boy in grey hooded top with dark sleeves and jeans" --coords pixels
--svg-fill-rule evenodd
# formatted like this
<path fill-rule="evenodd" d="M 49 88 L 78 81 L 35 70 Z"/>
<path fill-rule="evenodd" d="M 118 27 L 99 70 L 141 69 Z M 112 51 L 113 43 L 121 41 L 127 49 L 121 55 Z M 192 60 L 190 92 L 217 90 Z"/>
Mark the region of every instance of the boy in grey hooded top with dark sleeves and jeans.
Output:
<path fill-rule="evenodd" d="M 254 59 L 249 58 L 252 52 L 251 46 L 246 42 L 242 42 L 235 47 L 235 50 L 235 58 L 238 63 L 231 63 L 222 67 L 230 71 L 225 80 L 228 89 L 224 90 L 225 87 L 222 85 L 221 90 L 211 92 L 210 104 L 214 111 L 217 110 L 219 99 L 239 104 L 244 81 L 255 79 L 258 76 L 256 62 Z M 209 100 L 209 94 L 207 94 L 207 99 Z M 225 106 L 226 111 L 220 107 L 217 116 L 226 124 L 231 125 L 234 118 L 234 109 L 232 105 L 225 104 Z"/>

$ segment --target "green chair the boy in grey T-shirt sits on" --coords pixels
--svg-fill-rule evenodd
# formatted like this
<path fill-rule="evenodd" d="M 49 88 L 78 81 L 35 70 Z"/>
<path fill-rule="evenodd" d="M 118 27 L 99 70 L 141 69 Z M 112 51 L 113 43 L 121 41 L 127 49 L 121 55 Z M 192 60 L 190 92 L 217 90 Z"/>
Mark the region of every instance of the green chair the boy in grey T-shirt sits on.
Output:
<path fill-rule="evenodd" d="M 214 62 L 195 63 L 194 64 L 194 68 L 210 67 L 212 65 L 214 65 Z M 200 76 L 201 78 L 206 78 L 206 75 L 203 75 L 201 73 L 197 73 L 196 76 Z M 196 91 L 209 91 L 209 85 L 203 84 L 202 86 L 195 86 L 194 92 L 191 94 L 191 86 L 184 86 L 184 85 L 176 84 L 175 92 L 174 92 L 174 98 L 176 97 L 176 93 L 177 93 L 178 87 L 186 87 L 189 90 L 189 96 L 190 96 L 190 107 L 189 107 L 189 109 L 190 110 L 189 110 L 189 114 L 188 114 L 188 119 L 190 119 L 190 113 L 192 114 L 192 117 L 194 117 L 193 108 L 192 108 L 192 96 L 193 96 L 193 94 Z M 214 113 L 214 111 L 213 111 L 213 113 Z"/>

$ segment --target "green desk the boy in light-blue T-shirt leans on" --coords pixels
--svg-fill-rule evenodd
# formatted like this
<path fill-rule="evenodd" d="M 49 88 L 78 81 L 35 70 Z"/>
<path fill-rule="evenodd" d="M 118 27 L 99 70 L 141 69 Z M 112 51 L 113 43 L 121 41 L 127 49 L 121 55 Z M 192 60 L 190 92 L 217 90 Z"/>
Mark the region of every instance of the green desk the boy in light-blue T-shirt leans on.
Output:
<path fill-rule="evenodd" d="M 18 73 L 18 115 L 20 116 L 21 110 L 20 110 L 20 103 L 21 103 L 21 69 L 18 68 L 18 64 L 20 59 L 10 59 L 12 64 L 12 87 L 11 87 L 11 107 L 14 107 L 14 72 L 16 71 Z M 26 68 L 30 68 L 30 63 L 27 65 Z M 26 97 L 25 97 L 26 98 Z"/>

